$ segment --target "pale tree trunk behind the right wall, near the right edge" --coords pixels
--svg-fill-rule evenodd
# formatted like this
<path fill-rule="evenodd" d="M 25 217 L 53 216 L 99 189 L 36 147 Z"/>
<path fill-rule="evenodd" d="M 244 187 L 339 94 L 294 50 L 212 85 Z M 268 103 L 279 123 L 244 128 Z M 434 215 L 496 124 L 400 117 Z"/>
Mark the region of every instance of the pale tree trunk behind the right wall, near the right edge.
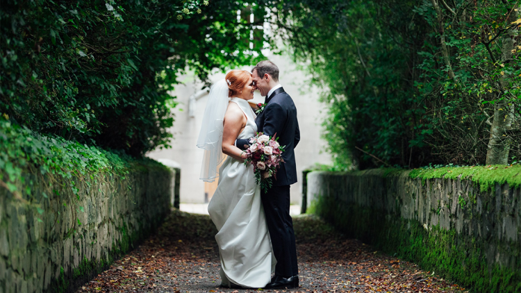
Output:
<path fill-rule="evenodd" d="M 518 19 L 519 12 L 516 11 L 516 5 L 510 11 L 506 24 L 510 26 L 512 22 Z M 518 26 L 509 28 L 502 37 L 502 64 L 507 64 L 512 60 L 512 51 L 514 49 L 515 37 L 518 35 Z M 487 151 L 487 165 L 506 165 L 508 164 L 508 153 L 510 152 L 511 139 L 506 136 L 512 126 L 513 107 L 509 106 L 510 97 L 508 90 L 510 90 L 511 74 L 504 73 L 500 79 L 502 87 L 502 100 L 496 101 L 494 104 L 494 120 L 490 126 L 490 140 L 488 140 Z"/>

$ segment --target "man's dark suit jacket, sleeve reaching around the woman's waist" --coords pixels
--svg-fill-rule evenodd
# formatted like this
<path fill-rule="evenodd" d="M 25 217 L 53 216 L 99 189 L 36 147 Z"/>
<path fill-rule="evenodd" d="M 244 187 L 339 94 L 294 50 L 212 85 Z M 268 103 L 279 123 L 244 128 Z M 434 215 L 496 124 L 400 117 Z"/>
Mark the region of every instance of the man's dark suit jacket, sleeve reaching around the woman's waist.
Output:
<path fill-rule="evenodd" d="M 297 167 L 295 165 L 295 147 L 300 141 L 297 108 L 290 95 L 282 87 L 276 89 L 267 97 L 266 106 L 255 120 L 257 131 L 265 135 L 279 137 L 279 144 L 286 146 L 282 153 L 284 163 L 276 172 L 274 186 L 291 185 L 297 182 Z M 249 140 L 237 140 L 237 147 L 245 150 Z"/>

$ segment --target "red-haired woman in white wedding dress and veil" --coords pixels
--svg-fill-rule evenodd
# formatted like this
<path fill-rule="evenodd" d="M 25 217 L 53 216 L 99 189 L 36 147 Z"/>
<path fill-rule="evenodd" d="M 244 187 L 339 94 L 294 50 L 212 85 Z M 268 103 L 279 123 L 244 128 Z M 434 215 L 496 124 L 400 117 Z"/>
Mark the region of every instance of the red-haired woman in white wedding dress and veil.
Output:
<path fill-rule="evenodd" d="M 208 212 L 217 227 L 215 240 L 221 258 L 223 287 L 265 287 L 271 281 L 276 260 L 261 203 L 261 190 L 254 169 L 242 162 L 245 153 L 235 140 L 256 135 L 256 115 L 248 100 L 254 97 L 251 74 L 232 70 L 210 89 L 197 147 L 204 149 L 201 179 L 213 182 L 217 190 Z"/>

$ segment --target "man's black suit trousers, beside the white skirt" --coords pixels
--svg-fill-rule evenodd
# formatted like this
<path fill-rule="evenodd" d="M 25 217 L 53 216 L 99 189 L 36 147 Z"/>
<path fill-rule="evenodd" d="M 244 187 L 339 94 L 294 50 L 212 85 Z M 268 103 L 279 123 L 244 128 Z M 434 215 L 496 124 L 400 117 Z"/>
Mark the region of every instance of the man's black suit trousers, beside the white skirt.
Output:
<path fill-rule="evenodd" d="M 290 216 L 290 185 L 274 186 L 261 193 L 267 229 L 276 258 L 275 274 L 288 278 L 299 274 L 295 232 Z"/>

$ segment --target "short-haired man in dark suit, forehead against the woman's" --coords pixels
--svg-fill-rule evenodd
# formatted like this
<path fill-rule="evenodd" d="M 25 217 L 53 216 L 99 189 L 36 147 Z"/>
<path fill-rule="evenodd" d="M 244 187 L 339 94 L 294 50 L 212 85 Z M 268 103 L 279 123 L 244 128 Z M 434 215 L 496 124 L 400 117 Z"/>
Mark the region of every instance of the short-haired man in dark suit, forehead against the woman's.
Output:
<path fill-rule="evenodd" d="M 282 153 L 284 163 L 276 172 L 273 187 L 261 192 L 261 200 L 270 231 L 276 258 L 275 275 L 266 288 L 299 287 L 295 232 L 290 217 L 290 185 L 297 182 L 295 147 L 300 140 L 297 108 L 279 83 L 279 67 L 268 60 L 258 62 L 251 69 L 256 89 L 265 99 L 265 108 L 257 119 L 258 132 L 276 135 L 279 144 L 286 146 Z M 249 140 L 237 140 L 236 146 L 246 149 Z"/>

